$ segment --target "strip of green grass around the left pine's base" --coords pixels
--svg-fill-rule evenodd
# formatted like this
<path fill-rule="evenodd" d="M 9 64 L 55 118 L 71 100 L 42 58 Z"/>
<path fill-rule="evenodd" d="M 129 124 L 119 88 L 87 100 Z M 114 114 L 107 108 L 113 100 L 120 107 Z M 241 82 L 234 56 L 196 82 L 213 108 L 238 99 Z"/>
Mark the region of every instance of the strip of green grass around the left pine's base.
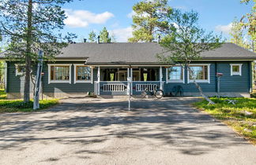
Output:
<path fill-rule="evenodd" d="M 58 99 L 50 99 L 40 101 L 40 109 L 49 108 L 53 105 L 58 104 Z M 13 100 L 13 101 L 5 101 L 0 100 L 0 113 L 4 112 L 32 112 L 33 110 L 33 101 L 29 101 L 28 103 L 24 103 L 22 100 Z"/>

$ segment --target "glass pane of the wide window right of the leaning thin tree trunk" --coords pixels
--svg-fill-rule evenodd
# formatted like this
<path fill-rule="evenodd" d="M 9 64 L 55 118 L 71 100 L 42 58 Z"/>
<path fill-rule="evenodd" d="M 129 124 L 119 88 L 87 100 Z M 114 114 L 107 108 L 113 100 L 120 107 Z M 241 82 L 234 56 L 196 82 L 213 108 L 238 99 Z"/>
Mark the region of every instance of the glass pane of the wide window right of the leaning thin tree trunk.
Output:
<path fill-rule="evenodd" d="M 190 66 L 192 75 L 190 79 L 208 79 L 208 67 L 207 66 Z"/>

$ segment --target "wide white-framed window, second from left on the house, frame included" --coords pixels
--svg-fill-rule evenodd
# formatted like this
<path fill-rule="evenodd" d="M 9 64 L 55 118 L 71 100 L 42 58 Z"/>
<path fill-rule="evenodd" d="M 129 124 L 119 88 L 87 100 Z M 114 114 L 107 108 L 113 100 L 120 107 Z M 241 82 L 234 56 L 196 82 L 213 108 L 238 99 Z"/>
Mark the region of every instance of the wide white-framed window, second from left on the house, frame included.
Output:
<path fill-rule="evenodd" d="M 48 64 L 48 83 L 71 83 L 71 64 Z"/>

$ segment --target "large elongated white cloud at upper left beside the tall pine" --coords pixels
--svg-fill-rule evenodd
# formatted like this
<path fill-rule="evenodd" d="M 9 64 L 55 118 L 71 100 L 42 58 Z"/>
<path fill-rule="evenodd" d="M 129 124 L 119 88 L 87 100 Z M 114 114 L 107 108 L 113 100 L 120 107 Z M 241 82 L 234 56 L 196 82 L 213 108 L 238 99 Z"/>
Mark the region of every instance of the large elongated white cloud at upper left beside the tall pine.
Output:
<path fill-rule="evenodd" d="M 64 23 L 69 27 L 87 27 L 88 24 L 104 24 L 111 17 L 114 17 L 113 13 L 92 13 L 88 10 L 73 10 L 65 9 L 66 20 Z"/>

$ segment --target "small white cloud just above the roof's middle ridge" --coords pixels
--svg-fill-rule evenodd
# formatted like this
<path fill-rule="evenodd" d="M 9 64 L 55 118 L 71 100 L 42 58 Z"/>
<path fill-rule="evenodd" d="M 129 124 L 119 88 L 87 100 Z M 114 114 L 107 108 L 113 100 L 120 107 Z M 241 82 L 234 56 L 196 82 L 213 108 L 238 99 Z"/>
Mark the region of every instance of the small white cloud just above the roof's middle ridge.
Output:
<path fill-rule="evenodd" d="M 127 42 L 128 38 L 133 36 L 132 32 L 133 32 L 132 27 L 126 27 L 126 28 L 114 29 L 110 31 L 110 34 L 115 35 L 117 42 Z"/>

